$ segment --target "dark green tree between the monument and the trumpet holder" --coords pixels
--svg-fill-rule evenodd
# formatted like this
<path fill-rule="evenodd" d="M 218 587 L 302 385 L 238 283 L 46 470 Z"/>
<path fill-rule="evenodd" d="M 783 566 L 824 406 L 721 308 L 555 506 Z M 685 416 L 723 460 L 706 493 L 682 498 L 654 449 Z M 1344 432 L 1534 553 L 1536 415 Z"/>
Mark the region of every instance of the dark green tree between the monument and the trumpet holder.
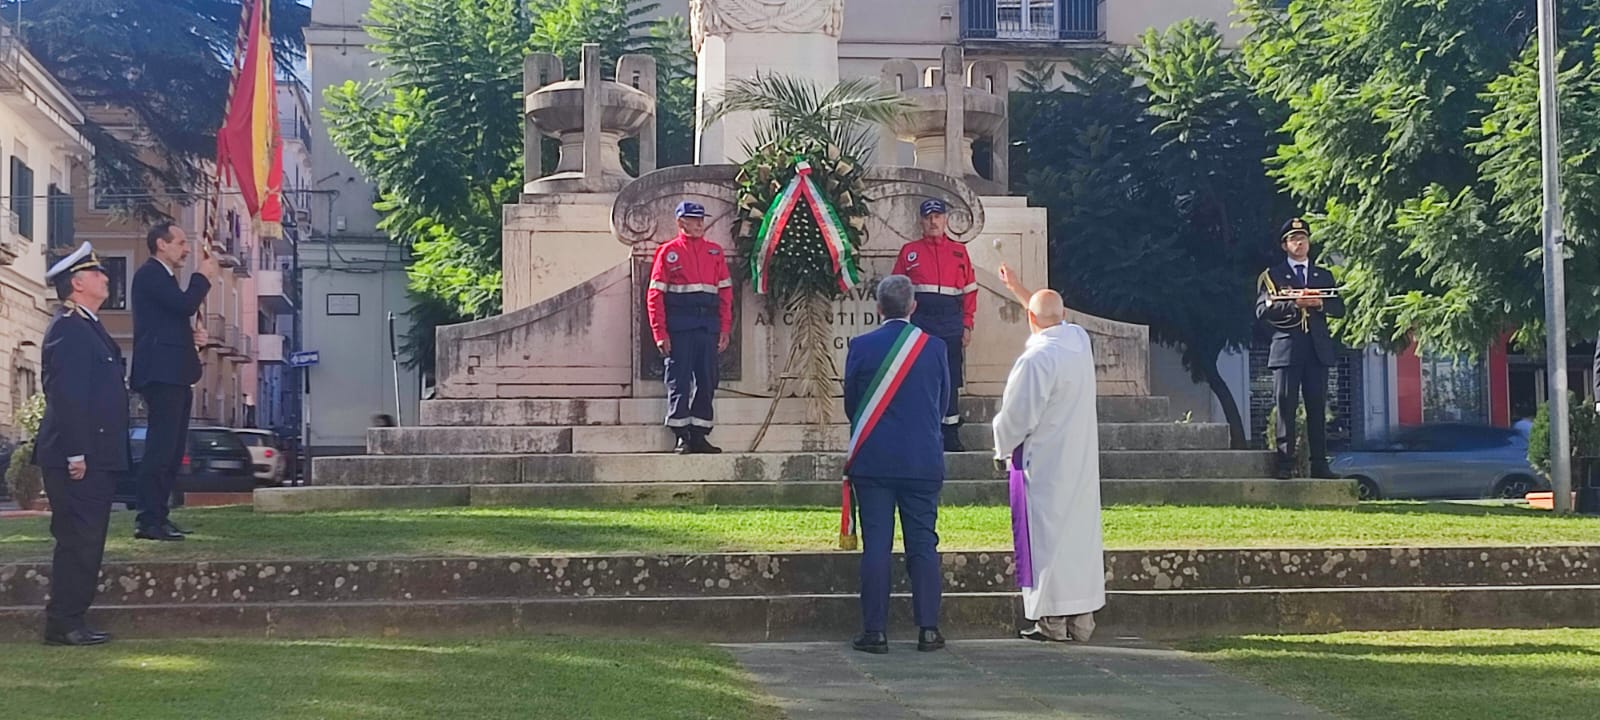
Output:
<path fill-rule="evenodd" d="M 1218 355 L 1254 336 L 1254 277 L 1283 211 L 1262 158 L 1272 107 L 1211 22 L 1149 30 L 1128 54 L 1072 58 L 1067 88 L 1022 75 L 1013 168 L 1050 210 L 1051 280 L 1072 307 L 1147 325 L 1245 424 Z M 1018 107 L 1014 104 L 1013 107 Z"/>

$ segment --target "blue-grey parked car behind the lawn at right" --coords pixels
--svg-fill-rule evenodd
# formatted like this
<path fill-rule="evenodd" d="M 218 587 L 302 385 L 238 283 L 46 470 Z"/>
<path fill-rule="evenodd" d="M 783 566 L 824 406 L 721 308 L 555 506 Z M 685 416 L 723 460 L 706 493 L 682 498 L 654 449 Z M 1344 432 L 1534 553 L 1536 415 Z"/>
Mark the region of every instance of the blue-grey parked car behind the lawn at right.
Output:
<path fill-rule="evenodd" d="M 1506 427 L 1432 424 L 1339 453 L 1333 472 L 1362 499 L 1522 498 L 1549 490 L 1528 464 L 1528 438 Z"/>

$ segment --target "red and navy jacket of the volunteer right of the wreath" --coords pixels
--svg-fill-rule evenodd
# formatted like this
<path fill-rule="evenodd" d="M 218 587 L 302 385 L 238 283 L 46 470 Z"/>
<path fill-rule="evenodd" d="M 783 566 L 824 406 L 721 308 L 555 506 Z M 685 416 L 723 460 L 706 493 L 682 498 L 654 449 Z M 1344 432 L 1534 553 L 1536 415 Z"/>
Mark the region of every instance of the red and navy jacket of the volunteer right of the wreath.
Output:
<path fill-rule="evenodd" d="M 978 275 L 966 245 L 946 235 L 912 240 L 894 259 L 894 275 L 910 278 L 917 291 L 912 322 L 925 333 L 955 338 L 973 328 L 978 315 Z"/>

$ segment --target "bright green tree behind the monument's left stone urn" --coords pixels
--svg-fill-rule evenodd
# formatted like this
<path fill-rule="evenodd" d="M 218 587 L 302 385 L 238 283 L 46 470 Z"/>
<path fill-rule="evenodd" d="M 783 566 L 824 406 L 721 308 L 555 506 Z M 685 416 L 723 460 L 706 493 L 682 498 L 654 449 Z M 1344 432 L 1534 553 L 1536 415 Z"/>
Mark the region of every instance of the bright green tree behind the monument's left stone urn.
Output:
<path fill-rule="evenodd" d="M 387 75 L 328 88 L 323 115 L 334 146 L 378 186 L 379 229 L 413 253 L 410 365 L 432 370 L 437 325 L 499 312 L 501 206 L 525 181 L 528 53 L 563 58 L 570 77 L 587 42 L 600 43 L 608 72 L 624 53 L 650 53 L 662 72 L 659 136 L 693 126 L 688 32 L 682 21 L 643 21 L 654 10 L 640 0 L 373 2 L 368 32 Z M 669 150 L 661 165 L 688 160 Z"/>

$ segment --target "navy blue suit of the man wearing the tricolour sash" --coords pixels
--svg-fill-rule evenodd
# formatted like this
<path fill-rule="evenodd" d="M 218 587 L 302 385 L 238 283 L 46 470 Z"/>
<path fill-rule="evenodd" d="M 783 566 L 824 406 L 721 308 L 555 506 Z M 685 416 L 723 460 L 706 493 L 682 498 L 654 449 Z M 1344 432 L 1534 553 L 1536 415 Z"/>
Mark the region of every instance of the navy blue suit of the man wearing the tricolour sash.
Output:
<path fill-rule="evenodd" d="M 845 355 L 845 414 L 854 422 L 867 402 L 874 376 L 906 328 L 890 320 L 850 341 Z M 917 627 L 939 624 L 939 490 L 944 486 L 941 421 L 950 398 L 944 341 L 928 346 L 883 410 L 883 419 L 856 451 L 845 475 L 861 512 L 862 629 L 883 632 L 888 624 L 890 550 L 894 546 L 894 509 L 906 538 L 906 571 Z"/>

